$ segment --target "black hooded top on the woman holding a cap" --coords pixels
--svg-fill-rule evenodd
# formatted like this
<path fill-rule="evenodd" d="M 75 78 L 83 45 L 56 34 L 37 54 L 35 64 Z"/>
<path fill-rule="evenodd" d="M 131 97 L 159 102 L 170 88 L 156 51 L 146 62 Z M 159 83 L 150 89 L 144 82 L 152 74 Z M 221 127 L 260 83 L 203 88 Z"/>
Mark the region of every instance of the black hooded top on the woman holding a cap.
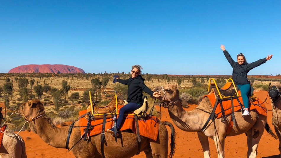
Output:
<path fill-rule="evenodd" d="M 128 85 L 128 98 L 127 102 L 133 102 L 137 104 L 142 104 L 143 102 L 143 93 L 145 91 L 149 95 L 153 96 L 153 91 L 146 87 L 144 84 L 144 78 L 141 75 L 138 75 L 135 78 L 130 77 L 127 80 L 117 79 L 117 82 L 122 83 L 124 85 Z"/>

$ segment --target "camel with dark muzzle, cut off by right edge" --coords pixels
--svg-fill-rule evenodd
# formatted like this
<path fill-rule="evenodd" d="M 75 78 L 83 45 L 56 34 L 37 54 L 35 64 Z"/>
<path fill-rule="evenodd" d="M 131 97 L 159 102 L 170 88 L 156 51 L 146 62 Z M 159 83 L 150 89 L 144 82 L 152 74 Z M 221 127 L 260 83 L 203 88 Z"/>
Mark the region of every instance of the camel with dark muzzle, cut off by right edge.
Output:
<path fill-rule="evenodd" d="M 276 89 L 273 87 L 275 86 Z M 281 151 L 281 84 L 280 82 L 269 83 L 269 97 L 272 106 L 272 125 L 279 139 L 279 151 Z M 280 154 L 281 158 L 281 154 Z"/>

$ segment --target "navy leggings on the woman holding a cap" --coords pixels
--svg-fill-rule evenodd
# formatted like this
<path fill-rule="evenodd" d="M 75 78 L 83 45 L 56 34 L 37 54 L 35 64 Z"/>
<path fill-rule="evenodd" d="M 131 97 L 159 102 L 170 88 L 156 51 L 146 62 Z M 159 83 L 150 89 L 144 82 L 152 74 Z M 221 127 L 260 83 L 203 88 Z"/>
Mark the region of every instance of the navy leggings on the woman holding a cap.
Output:
<path fill-rule="evenodd" d="M 120 108 L 119 116 L 118 116 L 117 124 L 116 124 L 117 130 L 120 129 L 120 127 L 121 127 L 121 123 L 123 121 L 124 113 L 125 112 L 133 112 L 134 110 L 136 110 L 140 107 L 141 107 L 140 104 L 128 103 L 124 107 Z"/>

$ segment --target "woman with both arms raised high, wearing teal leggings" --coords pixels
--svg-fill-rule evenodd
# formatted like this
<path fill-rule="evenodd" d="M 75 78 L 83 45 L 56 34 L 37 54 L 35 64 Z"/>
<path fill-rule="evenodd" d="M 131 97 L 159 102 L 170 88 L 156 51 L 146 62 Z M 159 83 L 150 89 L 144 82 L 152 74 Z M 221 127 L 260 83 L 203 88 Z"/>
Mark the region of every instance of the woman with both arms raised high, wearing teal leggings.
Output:
<path fill-rule="evenodd" d="M 223 53 L 225 54 L 225 57 L 227 61 L 230 63 L 231 67 L 233 68 L 232 70 L 232 79 L 234 83 L 238 86 L 238 88 L 241 91 L 241 96 L 242 100 L 244 103 L 244 112 L 242 116 L 248 116 L 250 115 L 249 113 L 249 92 L 251 90 L 250 83 L 247 78 L 247 74 L 250 70 L 252 70 L 255 67 L 258 67 L 261 64 L 264 64 L 267 60 L 270 60 L 272 58 L 272 55 L 268 55 L 266 58 L 259 59 L 255 62 L 248 63 L 246 61 L 246 58 L 244 54 L 240 53 L 237 54 L 237 62 L 235 62 L 227 50 L 225 50 L 225 46 L 221 45 L 220 48 L 223 50 Z"/>

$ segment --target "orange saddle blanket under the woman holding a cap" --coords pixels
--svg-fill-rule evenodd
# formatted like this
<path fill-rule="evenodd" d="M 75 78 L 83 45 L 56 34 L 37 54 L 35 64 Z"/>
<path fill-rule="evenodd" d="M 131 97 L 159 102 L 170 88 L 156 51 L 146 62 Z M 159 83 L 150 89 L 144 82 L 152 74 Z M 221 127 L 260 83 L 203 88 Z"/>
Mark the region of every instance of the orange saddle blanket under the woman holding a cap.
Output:
<path fill-rule="evenodd" d="M 121 107 L 122 106 L 119 105 L 118 109 L 120 109 Z M 80 111 L 79 116 L 85 114 L 86 112 L 87 110 Z M 155 120 L 158 120 L 158 118 L 156 116 L 151 116 L 151 117 L 147 116 L 146 120 L 138 120 L 140 135 L 150 138 L 152 140 L 156 140 L 159 133 L 159 123 L 156 122 Z M 84 117 L 82 117 L 79 120 L 80 126 L 86 126 L 87 123 L 88 120 L 86 120 Z M 103 119 L 92 120 L 91 125 L 93 125 L 94 127 L 93 129 L 89 130 L 88 136 L 94 136 L 96 134 L 100 134 L 102 132 L 102 123 L 103 123 Z M 114 125 L 114 121 L 112 118 L 106 119 L 105 132 L 108 128 L 112 128 L 113 125 Z M 86 129 L 85 127 L 80 127 L 81 136 L 84 134 L 85 129 Z M 134 115 L 124 116 L 124 120 L 122 121 L 120 131 L 127 130 L 127 129 L 131 129 L 133 133 L 137 133 Z"/>

